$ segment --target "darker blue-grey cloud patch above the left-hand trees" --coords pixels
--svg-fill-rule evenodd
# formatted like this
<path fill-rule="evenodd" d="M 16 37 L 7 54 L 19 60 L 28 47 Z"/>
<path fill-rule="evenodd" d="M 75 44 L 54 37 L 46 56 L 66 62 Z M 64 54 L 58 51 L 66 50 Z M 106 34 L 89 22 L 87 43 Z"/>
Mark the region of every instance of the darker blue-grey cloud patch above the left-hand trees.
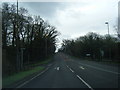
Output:
<path fill-rule="evenodd" d="M 27 7 L 30 13 L 43 17 L 54 17 L 56 10 L 61 7 L 60 2 L 21 2 L 21 6 Z"/>

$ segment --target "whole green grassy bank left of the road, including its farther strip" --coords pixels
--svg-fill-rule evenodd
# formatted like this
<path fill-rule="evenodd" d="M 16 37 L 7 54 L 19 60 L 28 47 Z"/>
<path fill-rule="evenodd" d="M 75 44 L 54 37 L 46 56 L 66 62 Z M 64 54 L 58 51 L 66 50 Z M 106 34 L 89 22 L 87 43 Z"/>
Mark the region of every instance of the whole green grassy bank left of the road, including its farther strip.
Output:
<path fill-rule="evenodd" d="M 51 61 L 52 59 L 47 59 L 45 61 L 42 61 L 42 62 L 36 62 L 34 64 L 30 64 L 28 67 L 29 69 L 25 70 L 25 71 L 21 71 L 21 72 L 18 72 L 18 73 L 15 73 L 11 76 L 7 76 L 7 77 L 4 77 L 2 79 L 2 84 L 3 84 L 3 87 L 6 87 L 8 85 L 11 85 L 19 80 L 22 80 L 24 79 L 25 77 L 27 76 L 30 76 L 36 72 L 39 72 L 41 70 L 43 70 L 45 67 L 44 66 L 40 66 L 42 64 L 47 64 Z"/>

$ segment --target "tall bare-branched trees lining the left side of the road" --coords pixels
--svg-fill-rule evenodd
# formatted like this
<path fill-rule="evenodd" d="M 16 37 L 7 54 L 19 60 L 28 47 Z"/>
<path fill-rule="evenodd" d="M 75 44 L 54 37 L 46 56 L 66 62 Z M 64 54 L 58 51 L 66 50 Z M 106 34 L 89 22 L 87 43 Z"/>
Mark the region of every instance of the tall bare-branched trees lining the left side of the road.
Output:
<path fill-rule="evenodd" d="M 40 16 L 15 4 L 2 4 L 3 74 L 17 72 L 31 62 L 54 54 L 58 31 Z"/>

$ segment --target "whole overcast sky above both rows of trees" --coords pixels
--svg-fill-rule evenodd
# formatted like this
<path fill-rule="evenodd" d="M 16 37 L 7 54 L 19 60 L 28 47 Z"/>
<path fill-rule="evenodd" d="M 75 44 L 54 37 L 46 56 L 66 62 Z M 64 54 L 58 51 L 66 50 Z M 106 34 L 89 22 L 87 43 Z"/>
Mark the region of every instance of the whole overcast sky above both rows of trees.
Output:
<path fill-rule="evenodd" d="M 107 34 L 108 21 L 110 34 L 117 24 L 119 0 L 79 0 L 79 2 L 21 2 L 19 6 L 28 9 L 31 15 L 40 15 L 55 26 L 62 39 L 74 39 L 88 32 Z M 59 43 L 58 43 L 59 44 Z"/>

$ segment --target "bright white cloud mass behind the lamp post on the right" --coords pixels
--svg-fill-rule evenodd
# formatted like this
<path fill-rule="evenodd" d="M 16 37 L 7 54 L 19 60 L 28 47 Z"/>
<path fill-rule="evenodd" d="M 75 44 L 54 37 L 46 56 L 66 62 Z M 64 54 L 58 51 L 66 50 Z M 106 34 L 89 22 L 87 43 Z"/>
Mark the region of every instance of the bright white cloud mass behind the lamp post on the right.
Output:
<path fill-rule="evenodd" d="M 57 25 L 59 30 L 71 36 L 76 32 L 80 34 L 91 31 L 106 34 L 105 21 L 110 22 L 111 33 L 113 33 L 112 25 L 116 18 L 117 7 L 112 7 L 112 2 L 103 1 L 87 3 L 85 6 L 69 3 L 64 10 L 58 10 L 55 17 L 59 22 Z"/>

